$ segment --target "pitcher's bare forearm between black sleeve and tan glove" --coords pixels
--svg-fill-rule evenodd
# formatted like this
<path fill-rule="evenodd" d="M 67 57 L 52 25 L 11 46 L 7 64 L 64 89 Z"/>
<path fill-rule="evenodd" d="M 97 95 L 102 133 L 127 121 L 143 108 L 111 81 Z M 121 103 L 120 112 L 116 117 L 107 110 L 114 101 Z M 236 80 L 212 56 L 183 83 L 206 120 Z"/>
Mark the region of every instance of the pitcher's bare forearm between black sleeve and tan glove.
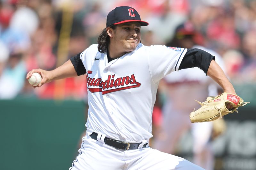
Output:
<path fill-rule="evenodd" d="M 216 81 L 222 87 L 224 92 L 236 94 L 233 85 L 230 83 L 223 70 L 214 60 L 212 60 L 210 63 L 207 75 Z"/>

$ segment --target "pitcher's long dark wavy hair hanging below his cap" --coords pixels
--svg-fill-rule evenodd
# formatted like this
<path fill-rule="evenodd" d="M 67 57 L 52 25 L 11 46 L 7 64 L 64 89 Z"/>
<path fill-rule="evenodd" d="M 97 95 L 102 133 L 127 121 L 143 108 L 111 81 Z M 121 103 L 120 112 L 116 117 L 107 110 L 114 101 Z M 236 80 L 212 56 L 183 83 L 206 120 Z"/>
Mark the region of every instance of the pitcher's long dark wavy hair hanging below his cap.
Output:
<path fill-rule="evenodd" d="M 116 29 L 116 25 L 112 25 L 109 27 L 112 28 L 113 30 Z M 109 41 L 110 39 L 107 33 L 107 27 L 106 27 L 101 31 L 100 36 L 98 37 L 98 50 L 100 53 L 107 52 Z"/>

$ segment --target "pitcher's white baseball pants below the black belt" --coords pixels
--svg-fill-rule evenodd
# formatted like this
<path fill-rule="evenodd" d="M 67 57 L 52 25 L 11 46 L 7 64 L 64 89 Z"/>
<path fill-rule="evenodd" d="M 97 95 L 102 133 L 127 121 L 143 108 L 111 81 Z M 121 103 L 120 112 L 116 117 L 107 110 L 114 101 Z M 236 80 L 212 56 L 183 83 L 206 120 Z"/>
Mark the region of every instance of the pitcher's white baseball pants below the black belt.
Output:
<path fill-rule="evenodd" d="M 69 170 L 203 170 L 186 159 L 150 147 L 120 150 L 92 139 L 82 139 L 79 155 Z"/>

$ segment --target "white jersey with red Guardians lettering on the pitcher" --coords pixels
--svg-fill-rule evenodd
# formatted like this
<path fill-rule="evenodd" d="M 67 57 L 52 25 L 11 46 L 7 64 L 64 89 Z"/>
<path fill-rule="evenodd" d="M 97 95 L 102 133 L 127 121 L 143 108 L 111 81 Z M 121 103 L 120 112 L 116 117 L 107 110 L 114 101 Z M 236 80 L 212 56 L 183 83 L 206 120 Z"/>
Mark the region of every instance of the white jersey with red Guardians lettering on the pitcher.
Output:
<path fill-rule="evenodd" d="M 87 71 L 87 129 L 118 140 L 148 140 L 158 83 L 178 71 L 187 49 L 140 43 L 134 51 L 108 62 L 97 46 L 80 55 Z"/>

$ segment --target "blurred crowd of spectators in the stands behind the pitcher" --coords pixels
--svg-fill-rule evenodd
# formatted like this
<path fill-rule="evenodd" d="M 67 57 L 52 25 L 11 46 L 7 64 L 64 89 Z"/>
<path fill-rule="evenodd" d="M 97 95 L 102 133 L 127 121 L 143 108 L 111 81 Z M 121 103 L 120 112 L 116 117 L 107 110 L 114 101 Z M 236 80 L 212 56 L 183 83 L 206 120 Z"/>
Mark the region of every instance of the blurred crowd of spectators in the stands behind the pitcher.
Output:
<path fill-rule="evenodd" d="M 232 82 L 256 82 L 255 0 L 1 0 L 0 99 L 84 98 L 85 76 L 34 90 L 25 75 L 36 68 L 52 70 L 97 43 L 108 12 L 121 5 L 149 22 L 141 29 L 144 45 L 184 36 L 175 29 L 189 21 L 196 43 L 223 57 Z"/>

